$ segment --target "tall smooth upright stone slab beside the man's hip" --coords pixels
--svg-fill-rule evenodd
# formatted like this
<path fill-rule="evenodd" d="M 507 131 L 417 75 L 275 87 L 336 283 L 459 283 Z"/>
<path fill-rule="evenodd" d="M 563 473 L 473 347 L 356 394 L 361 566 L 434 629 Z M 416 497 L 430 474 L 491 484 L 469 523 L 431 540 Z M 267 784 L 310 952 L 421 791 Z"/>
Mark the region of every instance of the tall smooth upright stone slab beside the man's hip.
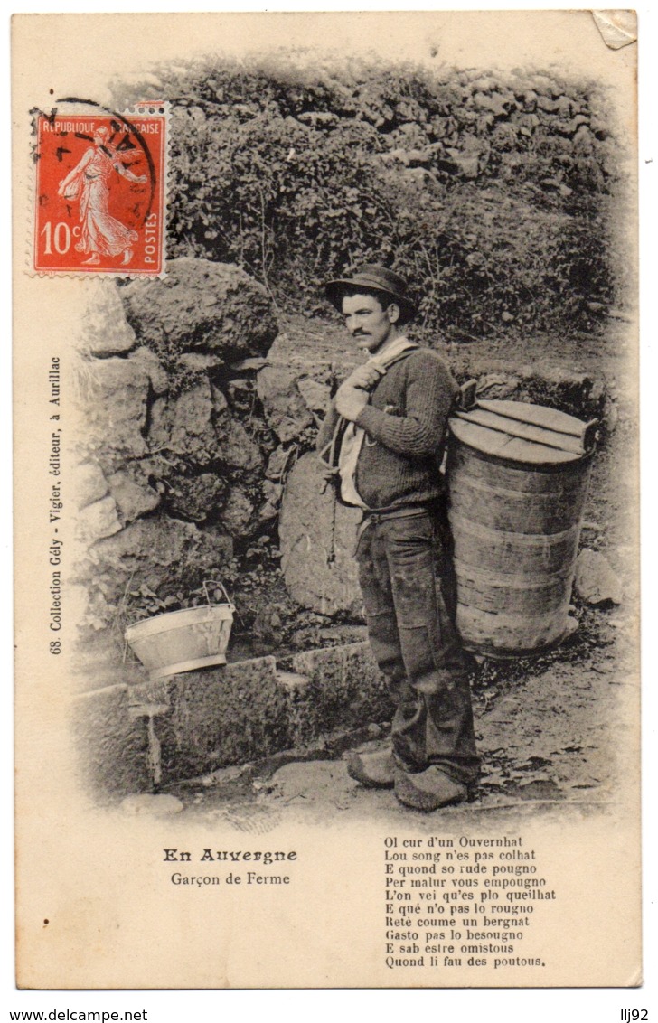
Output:
<path fill-rule="evenodd" d="M 323 489 L 324 488 L 324 489 Z M 309 452 L 286 481 L 278 524 L 281 568 L 298 604 L 321 615 L 361 613 L 354 561 L 360 513 L 324 487 L 317 456 Z"/>

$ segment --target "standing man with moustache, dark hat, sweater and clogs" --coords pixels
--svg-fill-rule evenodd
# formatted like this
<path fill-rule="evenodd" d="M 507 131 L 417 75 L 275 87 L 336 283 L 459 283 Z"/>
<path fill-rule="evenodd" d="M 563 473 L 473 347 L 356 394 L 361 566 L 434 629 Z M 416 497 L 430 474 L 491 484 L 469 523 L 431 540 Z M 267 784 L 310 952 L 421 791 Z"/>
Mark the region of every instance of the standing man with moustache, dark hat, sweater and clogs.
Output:
<path fill-rule="evenodd" d="M 352 753 L 348 771 L 434 810 L 466 799 L 479 771 L 439 472 L 457 386 L 436 352 L 405 337 L 415 306 L 398 274 L 368 265 L 325 292 L 369 357 L 339 388 L 318 450 L 340 474 L 340 499 L 363 510 L 359 582 L 396 706 L 392 748 Z"/>

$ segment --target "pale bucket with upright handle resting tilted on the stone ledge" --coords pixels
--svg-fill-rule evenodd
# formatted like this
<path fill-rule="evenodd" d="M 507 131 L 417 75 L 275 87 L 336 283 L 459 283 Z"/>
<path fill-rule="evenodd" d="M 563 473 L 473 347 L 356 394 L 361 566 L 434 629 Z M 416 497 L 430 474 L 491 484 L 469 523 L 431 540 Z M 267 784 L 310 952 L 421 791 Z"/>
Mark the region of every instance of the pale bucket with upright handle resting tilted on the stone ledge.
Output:
<path fill-rule="evenodd" d="M 126 641 L 148 671 L 151 680 L 181 671 L 226 664 L 235 608 L 226 590 L 226 604 L 211 604 L 170 611 L 129 625 Z M 204 583 L 208 596 L 207 584 Z"/>

